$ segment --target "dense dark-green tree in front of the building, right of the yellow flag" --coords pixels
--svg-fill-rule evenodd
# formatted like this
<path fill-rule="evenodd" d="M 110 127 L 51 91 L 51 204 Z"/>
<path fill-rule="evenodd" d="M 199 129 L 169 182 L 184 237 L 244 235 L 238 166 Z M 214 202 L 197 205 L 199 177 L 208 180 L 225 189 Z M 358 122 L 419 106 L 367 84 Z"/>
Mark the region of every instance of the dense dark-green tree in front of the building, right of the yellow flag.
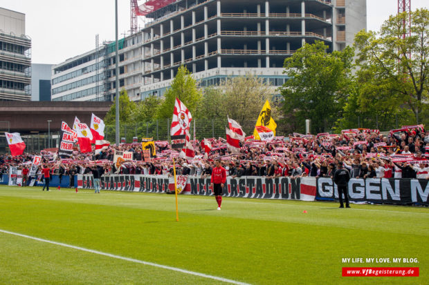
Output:
<path fill-rule="evenodd" d="M 305 44 L 284 61 L 290 78 L 282 86 L 284 115 L 301 121 L 311 119 L 313 132 L 329 130 L 341 116 L 352 81 L 354 48 L 328 52 L 322 41 Z"/>

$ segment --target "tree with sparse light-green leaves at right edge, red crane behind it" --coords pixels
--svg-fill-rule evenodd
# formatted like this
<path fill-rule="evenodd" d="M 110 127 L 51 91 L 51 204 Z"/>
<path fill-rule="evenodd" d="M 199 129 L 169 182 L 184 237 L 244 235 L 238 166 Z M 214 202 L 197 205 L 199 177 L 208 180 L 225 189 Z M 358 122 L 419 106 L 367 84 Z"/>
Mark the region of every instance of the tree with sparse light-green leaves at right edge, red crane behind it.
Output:
<path fill-rule="evenodd" d="M 403 23 L 409 17 L 410 30 L 405 30 Z M 404 38 L 403 34 L 409 32 L 410 37 Z M 411 14 L 390 16 L 380 32 L 360 31 L 355 42 L 358 66 L 363 74 L 372 77 L 366 88 L 370 92 L 362 101 L 378 103 L 376 93 L 383 89 L 383 95 L 390 99 L 383 103 L 392 106 L 396 100 L 406 104 L 414 114 L 414 123 L 426 119 L 422 112 L 427 112 L 428 100 L 429 10 L 422 8 Z M 396 110 L 397 106 L 390 112 Z"/>

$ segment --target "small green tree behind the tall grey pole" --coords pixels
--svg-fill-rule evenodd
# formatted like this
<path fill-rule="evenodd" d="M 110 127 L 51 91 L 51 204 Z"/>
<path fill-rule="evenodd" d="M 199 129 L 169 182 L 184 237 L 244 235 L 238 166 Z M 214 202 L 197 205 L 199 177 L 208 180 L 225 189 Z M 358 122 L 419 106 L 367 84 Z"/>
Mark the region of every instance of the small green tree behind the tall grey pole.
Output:
<path fill-rule="evenodd" d="M 130 124 L 134 123 L 134 114 L 136 112 L 136 104 L 133 101 L 129 101 L 127 90 L 120 90 L 119 95 L 119 123 Z M 116 121 L 116 101 L 110 107 L 106 117 L 104 117 L 104 124 L 115 125 Z"/>

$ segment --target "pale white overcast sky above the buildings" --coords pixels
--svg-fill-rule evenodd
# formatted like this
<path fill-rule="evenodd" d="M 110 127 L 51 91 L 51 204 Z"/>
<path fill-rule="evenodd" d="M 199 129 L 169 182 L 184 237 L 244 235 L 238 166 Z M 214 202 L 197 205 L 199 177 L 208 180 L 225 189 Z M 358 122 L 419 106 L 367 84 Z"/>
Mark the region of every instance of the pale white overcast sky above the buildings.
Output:
<path fill-rule="evenodd" d="M 118 0 L 119 38 L 124 32 L 129 33 L 129 2 Z M 427 3 L 427 0 L 412 0 L 411 8 L 427 8 Z M 88 52 L 95 48 L 96 34 L 100 35 L 100 43 L 115 39 L 114 0 L 0 0 L 0 7 L 26 14 L 26 35 L 32 39 L 33 63 L 57 64 Z M 378 30 L 396 12 L 396 0 L 367 0 L 368 30 Z M 138 25 L 143 27 L 144 18 L 139 18 Z"/>

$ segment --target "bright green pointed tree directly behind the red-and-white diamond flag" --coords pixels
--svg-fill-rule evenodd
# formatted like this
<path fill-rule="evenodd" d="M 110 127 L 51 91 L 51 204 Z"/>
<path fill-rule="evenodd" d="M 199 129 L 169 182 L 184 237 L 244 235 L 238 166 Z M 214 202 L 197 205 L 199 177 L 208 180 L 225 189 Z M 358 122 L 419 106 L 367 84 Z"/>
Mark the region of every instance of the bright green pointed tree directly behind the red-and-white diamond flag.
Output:
<path fill-rule="evenodd" d="M 185 66 L 179 67 L 172 85 L 164 95 L 165 99 L 158 108 L 158 119 L 167 119 L 173 116 L 174 103 L 179 98 L 194 114 L 201 99 L 201 91 L 197 88 L 197 81 L 192 77 L 190 71 Z"/>

